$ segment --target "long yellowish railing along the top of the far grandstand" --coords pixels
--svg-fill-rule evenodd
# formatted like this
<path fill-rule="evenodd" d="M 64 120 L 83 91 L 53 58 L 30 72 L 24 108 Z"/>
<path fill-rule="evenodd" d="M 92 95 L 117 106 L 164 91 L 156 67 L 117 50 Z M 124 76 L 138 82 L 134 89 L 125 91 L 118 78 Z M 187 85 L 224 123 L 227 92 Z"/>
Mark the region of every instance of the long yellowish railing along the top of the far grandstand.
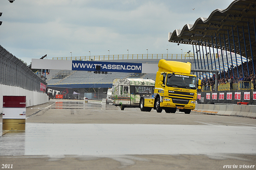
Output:
<path fill-rule="evenodd" d="M 213 59 L 212 54 L 212 59 Z M 215 55 L 216 56 L 216 55 Z M 198 56 L 198 58 L 200 58 Z M 201 59 L 206 59 L 202 56 Z M 100 55 L 100 56 L 79 56 L 79 57 L 53 57 L 52 60 L 80 60 L 80 61 L 98 61 L 98 60 L 135 60 L 135 59 L 194 59 L 194 54 L 120 54 L 120 55 Z M 210 56 L 208 56 L 210 59 Z"/>

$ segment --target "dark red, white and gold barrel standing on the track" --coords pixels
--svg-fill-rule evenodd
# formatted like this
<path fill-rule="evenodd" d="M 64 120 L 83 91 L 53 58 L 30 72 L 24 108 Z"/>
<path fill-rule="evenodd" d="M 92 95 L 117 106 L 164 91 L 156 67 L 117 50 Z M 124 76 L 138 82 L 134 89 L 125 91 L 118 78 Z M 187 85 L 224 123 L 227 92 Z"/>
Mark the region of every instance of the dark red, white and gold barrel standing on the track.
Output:
<path fill-rule="evenodd" d="M 26 96 L 3 96 L 3 130 L 25 130 Z"/>

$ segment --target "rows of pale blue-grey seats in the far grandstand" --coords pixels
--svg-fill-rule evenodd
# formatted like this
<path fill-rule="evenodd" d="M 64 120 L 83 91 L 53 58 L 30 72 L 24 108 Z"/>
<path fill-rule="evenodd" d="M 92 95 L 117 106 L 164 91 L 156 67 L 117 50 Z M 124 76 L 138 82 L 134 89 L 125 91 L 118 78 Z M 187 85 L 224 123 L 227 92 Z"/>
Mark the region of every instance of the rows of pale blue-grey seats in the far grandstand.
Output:
<path fill-rule="evenodd" d="M 232 56 L 233 58 L 234 56 Z M 241 59 L 239 60 L 238 58 L 238 64 L 241 64 Z M 226 56 L 223 57 L 223 62 L 222 62 L 222 57 L 220 59 L 220 69 L 227 70 L 227 60 Z M 106 61 L 106 60 L 105 60 Z M 135 63 L 158 63 L 159 59 L 136 59 L 136 60 L 118 60 L 116 62 L 135 62 Z M 194 60 L 192 59 L 186 59 L 186 60 L 175 60 L 175 61 L 182 61 L 182 62 L 191 62 L 192 64 L 192 69 L 208 69 L 207 61 L 206 66 L 204 66 L 204 60 L 202 59 L 202 64 L 201 60 L 196 60 L 196 64 Z M 230 55 L 228 55 L 228 66 L 231 66 L 231 59 Z M 245 58 L 243 58 L 243 62 L 246 61 Z M 113 62 L 113 60 L 111 60 Z M 198 62 L 199 62 L 199 67 L 198 67 Z M 215 70 L 215 64 L 214 64 L 214 59 L 212 59 L 212 63 L 210 62 L 210 59 L 208 59 L 208 64 L 209 64 L 209 69 L 212 69 L 213 65 L 213 70 Z M 201 67 L 201 65 L 203 67 Z M 236 66 L 236 63 L 233 62 L 233 65 Z M 218 65 L 218 58 L 216 58 L 216 68 L 217 70 L 219 69 Z M 196 74 L 196 73 L 194 73 Z M 209 74 L 207 73 L 201 73 L 200 76 L 208 76 Z M 199 74 L 198 74 L 199 76 Z M 210 73 L 210 76 L 212 76 L 212 73 Z M 131 73 L 123 73 L 123 72 L 108 72 L 108 74 L 94 74 L 94 72 L 88 72 L 88 71 L 70 71 L 70 70 L 50 70 L 50 74 L 46 75 L 46 82 L 48 83 L 48 86 L 54 85 L 65 85 L 65 84 L 112 84 L 113 79 L 115 78 L 144 78 L 144 79 L 156 79 L 156 74 L 142 74 L 141 76 L 134 76 Z"/>

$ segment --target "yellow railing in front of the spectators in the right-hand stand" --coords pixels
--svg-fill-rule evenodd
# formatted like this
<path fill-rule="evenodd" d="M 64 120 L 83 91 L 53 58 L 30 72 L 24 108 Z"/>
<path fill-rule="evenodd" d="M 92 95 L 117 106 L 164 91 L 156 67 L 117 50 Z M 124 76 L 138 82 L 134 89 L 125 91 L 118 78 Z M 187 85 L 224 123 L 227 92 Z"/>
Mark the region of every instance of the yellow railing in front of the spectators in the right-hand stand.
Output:
<path fill-rule="evenodd" d="M 250 90 L 253 89 L 253 84 L 252 82 L 238 82 L 238 83 L 233 83 L 232 88 L 230 87 L 230 83 L 220 83 L 218 85 L 218 90 L 219 91 L 224 91 L 224 90 Z M 203 85 L 202 86 L 202 92 L 207 92 L 211 91 L 212 87 L 210 85 Z"/>

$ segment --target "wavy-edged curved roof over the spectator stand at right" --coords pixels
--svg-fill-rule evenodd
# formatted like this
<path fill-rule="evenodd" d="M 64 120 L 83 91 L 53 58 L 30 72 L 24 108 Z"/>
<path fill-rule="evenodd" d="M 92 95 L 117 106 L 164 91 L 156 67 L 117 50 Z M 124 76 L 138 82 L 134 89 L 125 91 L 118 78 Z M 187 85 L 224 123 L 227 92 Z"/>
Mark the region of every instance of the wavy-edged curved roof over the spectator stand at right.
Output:
<path fill-rule="evenodd" d="M 208 18 L 198 18 L 193 25 L 169 32 L 168 41 L 217 46 L 256 60 L 255 21 L 256 0 L 234 0 L 225 10 L 216 9 Z"/>

